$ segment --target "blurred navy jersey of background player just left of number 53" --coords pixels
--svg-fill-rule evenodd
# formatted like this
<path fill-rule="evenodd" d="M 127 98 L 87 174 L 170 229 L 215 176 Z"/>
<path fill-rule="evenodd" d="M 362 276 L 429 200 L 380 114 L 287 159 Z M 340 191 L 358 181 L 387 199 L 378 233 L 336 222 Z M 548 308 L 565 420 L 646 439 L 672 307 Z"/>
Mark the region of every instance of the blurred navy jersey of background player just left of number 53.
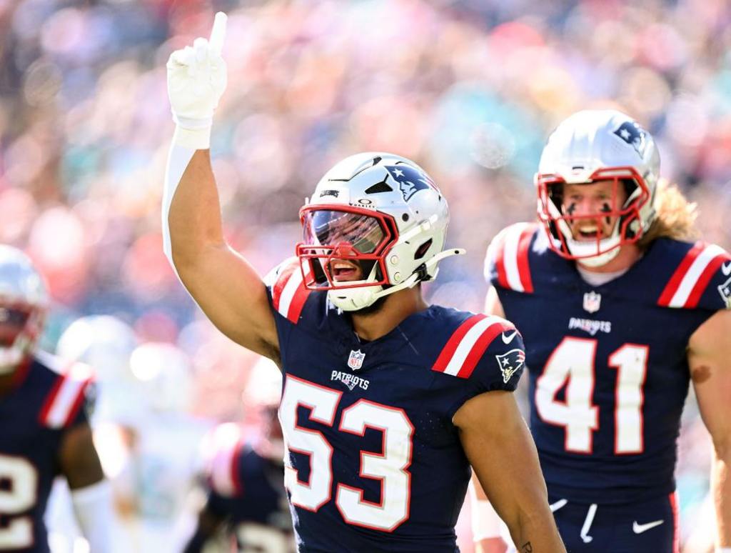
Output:
<path fill-rule="evenodd" d="M 257 453 L 232 423 L 219 426 L 216 434 L 222 439 L 208 472 L 208 511 L 226 522 L 240 552 L 294 551 L 281 462 Z"/>

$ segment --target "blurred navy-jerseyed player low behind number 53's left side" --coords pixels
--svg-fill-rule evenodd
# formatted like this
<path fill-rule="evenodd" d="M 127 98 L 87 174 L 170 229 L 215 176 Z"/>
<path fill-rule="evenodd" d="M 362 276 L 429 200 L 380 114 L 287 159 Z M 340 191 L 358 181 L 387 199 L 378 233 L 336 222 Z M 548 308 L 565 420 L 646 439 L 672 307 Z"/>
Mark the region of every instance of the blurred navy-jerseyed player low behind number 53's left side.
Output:
<path fill-rule="evenodd" d="M 208 497 L 185 553 L 200 553 L 216 539 L 230 537 L 240 553 L 295 551 L 283 482 L 280 396 L 281 375 L 262 357 L 251 369 L 243 398 L 253 435 L 240 424 L 224 423 L 204 440 Z"/>

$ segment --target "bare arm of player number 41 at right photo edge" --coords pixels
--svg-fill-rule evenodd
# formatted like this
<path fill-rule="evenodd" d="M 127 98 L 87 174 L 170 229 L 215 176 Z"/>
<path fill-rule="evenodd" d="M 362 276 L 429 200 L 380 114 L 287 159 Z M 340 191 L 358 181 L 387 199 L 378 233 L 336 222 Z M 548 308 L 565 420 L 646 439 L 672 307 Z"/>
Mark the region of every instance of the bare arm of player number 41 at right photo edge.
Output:
<path fill-rule="evenodd" d="M 688 361 L 693 386 L 713 439 L 711 492 L 717 547 L 731 548 L 731 311 L 719 311 L 691 336 Z M 725 550 L 725 549 L 724 549 Z"/>

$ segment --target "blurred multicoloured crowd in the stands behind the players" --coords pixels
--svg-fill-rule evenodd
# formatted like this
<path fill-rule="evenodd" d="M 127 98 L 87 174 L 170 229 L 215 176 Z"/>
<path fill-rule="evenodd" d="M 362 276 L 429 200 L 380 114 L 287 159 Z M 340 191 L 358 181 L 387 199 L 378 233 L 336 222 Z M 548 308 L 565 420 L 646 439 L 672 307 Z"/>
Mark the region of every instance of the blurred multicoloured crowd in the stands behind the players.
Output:
<path fill-rule="evenodd" d="M 330 165 L 394 151 L 431 173 L 450 201 L 448 241 L 468 249 L 428 297 L 480 310 L 485 247 L 534 219 L 550 129 L 602 106 L 654 134 L 703 238 L 731 248 L 725 0 L 0 0 L 0 242 L 48 278 L 42 345 L 55 350 L 78 317 L 113 315 L 131 331 L 125 355 L 177 348 L 191 385 L 176 409 L 205 424 L 246 415 L 256 358 L 179 284 L 159 204 L 173 132 L 164 65 L 217 10 L 229 15 L 229 85 L 214 170 L 227 236 L 262 274 L 294 252 L 298 208 Z M 685 418 L 683 541 L 703 552 L 709 441 L 692 399 Z"/>

